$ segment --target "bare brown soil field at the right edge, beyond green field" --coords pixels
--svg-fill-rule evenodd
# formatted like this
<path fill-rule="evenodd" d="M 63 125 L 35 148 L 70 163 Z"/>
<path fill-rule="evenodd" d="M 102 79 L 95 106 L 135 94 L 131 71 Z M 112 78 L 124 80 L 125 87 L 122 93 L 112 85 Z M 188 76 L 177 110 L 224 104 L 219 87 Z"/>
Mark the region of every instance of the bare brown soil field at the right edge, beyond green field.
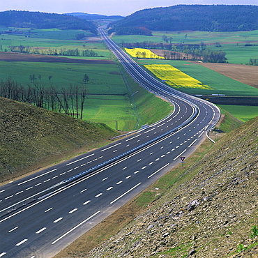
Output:
<path fill-rule="evenodd" d="M 189 61 L 200 66 L 205 66 L 217 73 L 221 73 L 229 78 L 236 79 L 255 88 L 258 88 L 258 66 L 245 66 L 236 63 L 202 63 Z"/>

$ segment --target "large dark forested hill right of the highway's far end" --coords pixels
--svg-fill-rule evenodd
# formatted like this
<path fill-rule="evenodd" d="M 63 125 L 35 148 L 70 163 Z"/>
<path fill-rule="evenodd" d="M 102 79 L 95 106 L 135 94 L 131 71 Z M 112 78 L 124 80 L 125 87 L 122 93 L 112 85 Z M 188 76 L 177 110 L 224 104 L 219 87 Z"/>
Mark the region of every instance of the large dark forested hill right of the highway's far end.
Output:
<path fill-rule="evenodd" d="M 258 29 L 258 6 L 179 5 L 139 10 L 109 24 L 110 33 L 145 34 L 151 31 L 247 31 Z"/>

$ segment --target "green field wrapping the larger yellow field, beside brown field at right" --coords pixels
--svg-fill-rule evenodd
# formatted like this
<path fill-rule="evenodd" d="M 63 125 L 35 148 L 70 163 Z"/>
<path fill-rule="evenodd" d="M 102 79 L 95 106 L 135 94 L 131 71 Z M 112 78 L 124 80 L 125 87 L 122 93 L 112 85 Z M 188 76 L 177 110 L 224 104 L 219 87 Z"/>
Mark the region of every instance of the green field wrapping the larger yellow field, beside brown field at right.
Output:
<path fill-rule="evenodd" d="M 139 60 L 139 64 L 169 64 L 175 68 L 181 70 L 183 73 L 190 75 L 191 77 L 199 80 L 203 84 L 206 84 L 213 88 L 208 89 L 192 89 L 184 88 L 182 91 L 191 94 L 225 94 L 230 96 L 258 96 L 258 89 L 243 84 L 234 79 L 221 75 L 211 69 L 204 66 L 195 65 L 186 61 L 172 61 L 172 60 Z"/>

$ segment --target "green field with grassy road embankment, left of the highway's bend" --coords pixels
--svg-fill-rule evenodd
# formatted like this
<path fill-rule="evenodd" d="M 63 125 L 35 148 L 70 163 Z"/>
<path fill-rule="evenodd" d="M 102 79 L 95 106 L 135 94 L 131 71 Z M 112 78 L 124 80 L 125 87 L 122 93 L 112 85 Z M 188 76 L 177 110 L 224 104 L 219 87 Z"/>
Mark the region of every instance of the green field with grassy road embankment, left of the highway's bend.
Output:
<path fill-rule="evenodd" d="M 122 70 L 123 71 L 123 70 Z M 82 82 L 84 74 L 89 76 L 89 83 Z M 125 73 L 125 72 L 123 72 Z M 36 82 L 56 88 L 69 87 L 70 84 L 84 85 L 87 97 L 83 119 L 106 123 L 119 130 L 134 130 L 145 123 L 154 123 L 172 111 L 168 103 L 155 98 L 151 93 L 135 84 L 133 79 L 125 79 L 121 68 L 116 64 L 94 63 L 45 63 L 45 62 L 5 62 L 0 61 L 0 81 L 8 76 L 19 84 L 31 84 L 29 76 L 35 74 Z M 41 75 L 41 79 L 38 79 Z M 132 87 L 132 89 L 131 89 Z M 132 93 L 138 91 L 132 99 Z M 156 106 L 160 111 L 153 115 Z"/>

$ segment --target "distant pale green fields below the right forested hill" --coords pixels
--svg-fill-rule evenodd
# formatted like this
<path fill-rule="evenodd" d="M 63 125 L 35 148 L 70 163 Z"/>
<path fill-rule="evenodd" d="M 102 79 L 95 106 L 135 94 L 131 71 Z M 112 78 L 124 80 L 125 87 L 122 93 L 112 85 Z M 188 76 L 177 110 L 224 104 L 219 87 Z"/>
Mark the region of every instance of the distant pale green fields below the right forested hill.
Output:
<path fill-rule="evenodd" d="M 149 41 L 153 43 L 165 43 L 162 36 L 172 39 L 172 44 L 201 44 L 204 42 L 211 50 L 225 51 L 229 63 L 248 63 L 250 58 L 258 58 L 258 31 L 153 31 L 153 36 L 123 35 L 113 36 L 116 43 L 137 43 Z M 186 37 L 185 37 L 186 36 Z M 215 47 L 215 43 L 221 47 Z M 251 43 L 252 46 L 245 46 Z"/>

